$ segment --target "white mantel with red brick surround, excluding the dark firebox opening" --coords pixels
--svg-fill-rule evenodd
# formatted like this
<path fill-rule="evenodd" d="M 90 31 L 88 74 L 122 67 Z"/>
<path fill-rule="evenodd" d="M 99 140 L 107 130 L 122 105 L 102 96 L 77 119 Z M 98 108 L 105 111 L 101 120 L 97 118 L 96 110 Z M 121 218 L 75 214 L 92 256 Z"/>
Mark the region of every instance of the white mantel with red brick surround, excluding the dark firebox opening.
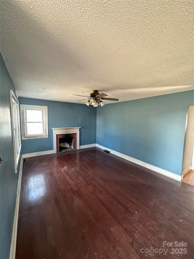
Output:
<path fill-rule="evenodd" d="M 73 137 L 73 149 L 79 149 L 79 129 L 80 128 L 81 127 L 52 128 L 54 153 L 59 152 L 59 138 L 65 138 L 65 137 Z"/>

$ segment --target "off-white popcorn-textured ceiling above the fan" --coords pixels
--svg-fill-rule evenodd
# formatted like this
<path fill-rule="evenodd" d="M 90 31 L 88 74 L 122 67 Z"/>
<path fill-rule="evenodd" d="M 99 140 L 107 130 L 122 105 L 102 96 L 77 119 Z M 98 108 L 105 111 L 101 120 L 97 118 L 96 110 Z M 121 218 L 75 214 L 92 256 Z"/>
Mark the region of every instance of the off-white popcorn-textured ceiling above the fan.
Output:
<path fill-rule="evenodd" d="M 22 97 L 191 90 L 193 14 L 193 0 L 1 0 L 1 52 Z"/>

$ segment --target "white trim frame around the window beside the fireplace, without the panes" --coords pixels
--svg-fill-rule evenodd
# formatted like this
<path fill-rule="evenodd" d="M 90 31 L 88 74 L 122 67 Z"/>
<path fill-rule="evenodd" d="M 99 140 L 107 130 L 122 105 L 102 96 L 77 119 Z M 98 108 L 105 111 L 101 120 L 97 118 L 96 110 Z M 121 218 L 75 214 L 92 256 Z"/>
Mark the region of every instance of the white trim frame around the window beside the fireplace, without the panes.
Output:
<path fill-rule="evenodd" d="M 26 130 L 26 110 L 42 110 L 43 115 L 43 134 L 27 135 Z M 20 104 L 21 127 L 22 127 L 22 140 L 33 138 L 48 138 L 48 107 L 39 105 Z"/>

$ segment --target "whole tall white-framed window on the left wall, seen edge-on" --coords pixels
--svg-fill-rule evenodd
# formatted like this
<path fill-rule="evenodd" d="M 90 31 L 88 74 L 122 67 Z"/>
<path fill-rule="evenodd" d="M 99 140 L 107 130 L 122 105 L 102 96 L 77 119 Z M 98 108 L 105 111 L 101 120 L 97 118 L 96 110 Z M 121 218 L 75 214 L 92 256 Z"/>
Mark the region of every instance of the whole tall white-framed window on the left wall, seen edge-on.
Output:
<path fill-rule="evenodd" d="M 10 103 L 11 103 L 11 118 L 12 118 L 12 135 L 13 148 L 15 160 L 15 172 L 17 173 L 17 166 L 19 161 L 19 154 L 21 150 L 21 131 L 20 131 L 20 117 L 19 117 L 19 103 L 15 94 L 10 89 Z"/>

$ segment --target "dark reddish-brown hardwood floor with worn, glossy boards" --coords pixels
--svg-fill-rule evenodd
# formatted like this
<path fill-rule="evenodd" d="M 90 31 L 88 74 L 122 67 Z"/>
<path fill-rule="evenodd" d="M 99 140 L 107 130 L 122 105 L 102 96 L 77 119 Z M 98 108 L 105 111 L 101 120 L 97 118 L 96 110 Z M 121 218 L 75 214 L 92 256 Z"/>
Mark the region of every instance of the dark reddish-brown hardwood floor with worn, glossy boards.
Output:
<path fill-rule="evenodd" d="M 99 148 L 26 158 L 16 259 L 193 259 L 193 202 L 193 186 Z"/>

